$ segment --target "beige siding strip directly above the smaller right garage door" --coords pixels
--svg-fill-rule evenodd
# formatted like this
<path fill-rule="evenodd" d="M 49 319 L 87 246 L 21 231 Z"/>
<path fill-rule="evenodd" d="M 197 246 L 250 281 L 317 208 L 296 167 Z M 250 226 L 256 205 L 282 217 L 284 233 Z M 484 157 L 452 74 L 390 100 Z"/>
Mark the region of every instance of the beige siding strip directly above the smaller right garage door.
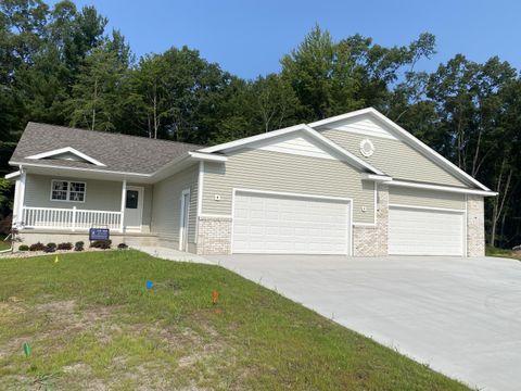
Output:
<path fill-rule="evenodd" d="M 465 194 L 390 186 L 389 203 L 465 210 Z"/>

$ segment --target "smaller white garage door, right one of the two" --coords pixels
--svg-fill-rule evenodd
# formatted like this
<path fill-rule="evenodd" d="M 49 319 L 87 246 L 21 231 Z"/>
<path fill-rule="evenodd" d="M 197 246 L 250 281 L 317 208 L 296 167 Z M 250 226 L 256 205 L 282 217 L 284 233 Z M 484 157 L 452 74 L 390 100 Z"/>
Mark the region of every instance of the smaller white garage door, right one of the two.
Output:
<path fill-rule="evenodd" d="M 465 214 L 391 206 L 389 253 L 394 255 L 463 255 Z"/>

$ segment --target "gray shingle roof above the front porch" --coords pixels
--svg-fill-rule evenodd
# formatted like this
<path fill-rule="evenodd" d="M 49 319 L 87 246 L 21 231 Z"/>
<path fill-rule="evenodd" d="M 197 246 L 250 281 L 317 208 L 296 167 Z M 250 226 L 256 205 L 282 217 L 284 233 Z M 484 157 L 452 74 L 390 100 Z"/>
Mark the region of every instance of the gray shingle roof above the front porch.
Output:
<path fill-rule="evenodd" d="M 66 147 L 72 147 L 105 166 L 64 160 L 35 161 L 27 159 L 27 156 Z M 190 143 L 29 122 L 11 161 L 16 163 L 38 162 L 60 167 L 152 174 L 174 159 L 201 148 L 201 146 Z"/>

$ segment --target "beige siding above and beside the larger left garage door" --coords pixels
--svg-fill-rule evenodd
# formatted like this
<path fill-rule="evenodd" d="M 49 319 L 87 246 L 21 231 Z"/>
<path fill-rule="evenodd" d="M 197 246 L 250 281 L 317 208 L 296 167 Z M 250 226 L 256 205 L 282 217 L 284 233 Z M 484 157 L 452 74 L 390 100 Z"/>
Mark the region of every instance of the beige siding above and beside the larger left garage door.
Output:
<path fill-rule="evenodd" d="M 244 149 L 226 163 L 204 163 L 202 213 L 231 215 L 233 188 L 242 188 L 351 198 L 354 222 L 374 223 L 374 184 L 360 177 L 336 160 Z"/>

